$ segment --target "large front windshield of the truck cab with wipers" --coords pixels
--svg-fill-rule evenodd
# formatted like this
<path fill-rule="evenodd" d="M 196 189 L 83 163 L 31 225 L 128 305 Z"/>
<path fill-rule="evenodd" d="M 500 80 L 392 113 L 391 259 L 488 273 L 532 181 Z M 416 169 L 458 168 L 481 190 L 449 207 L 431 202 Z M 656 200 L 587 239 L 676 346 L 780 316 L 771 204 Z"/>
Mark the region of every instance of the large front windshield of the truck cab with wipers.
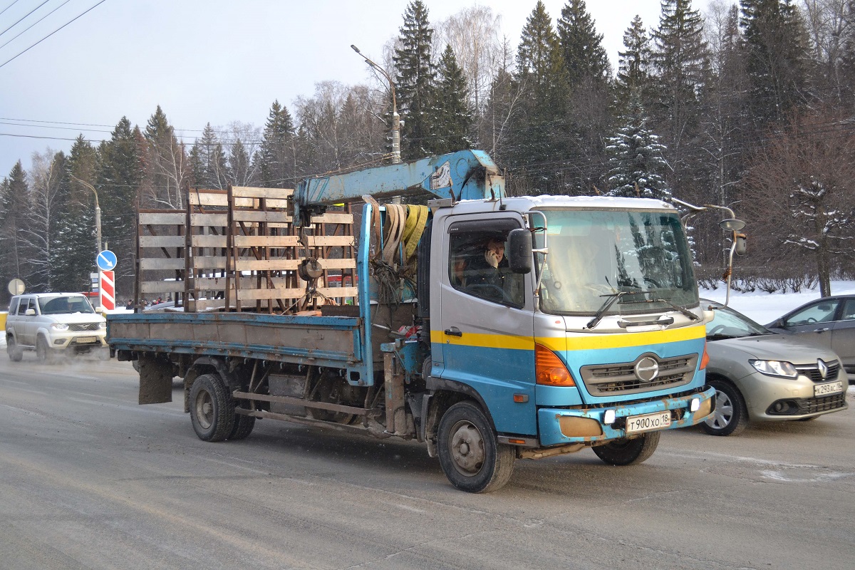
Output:
<path fill-rule="evenodd" d="M 604 314 L 669 310 L 669 303 L 699 303 L 692 255 L 672 211 L 543 209 L 549 255 L 540 309 L 552 314 Z M 534 222 L 539 216 L 533 218 Z M 543 244 L 543 233 L 536 232 Z"/>

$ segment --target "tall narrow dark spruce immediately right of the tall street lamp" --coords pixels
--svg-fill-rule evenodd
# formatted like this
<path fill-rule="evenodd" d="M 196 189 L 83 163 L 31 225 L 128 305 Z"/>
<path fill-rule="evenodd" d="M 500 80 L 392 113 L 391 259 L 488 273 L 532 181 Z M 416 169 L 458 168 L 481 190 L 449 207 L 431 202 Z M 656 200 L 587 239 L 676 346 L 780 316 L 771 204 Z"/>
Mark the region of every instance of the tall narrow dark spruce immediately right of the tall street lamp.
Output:
<path fill-rule="evenodd" d="M 433 28 L 428 22 L 428 9 L 422 0 L 413 0 L 404 11 L 395 64 L 398 109 L 404 126 L 401 129 L 401 156 L 404 160 L 433 154 L 436 141 L 435 78 L 431 55 Z"/>

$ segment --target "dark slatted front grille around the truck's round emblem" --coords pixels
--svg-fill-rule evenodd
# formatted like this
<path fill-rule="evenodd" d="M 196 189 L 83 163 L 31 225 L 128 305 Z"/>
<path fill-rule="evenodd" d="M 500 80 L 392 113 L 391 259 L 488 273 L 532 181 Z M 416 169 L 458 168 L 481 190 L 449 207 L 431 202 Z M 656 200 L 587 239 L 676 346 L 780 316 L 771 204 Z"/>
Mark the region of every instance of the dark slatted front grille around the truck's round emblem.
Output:
<path fill-rule="evenodd" d="M 635 363 L 646 356 L 657 361 L 659 373 L 650 382 L 644 382 L 635 375 Z M 646 354 L 632 362 L 616 364 L 594 364 L 581 367 L 582 382 L 592 396 L 613 394 L 637 394 L 661 390 L 666 386 L 688 384 L 694 377 L 698 363 L 697 355 L 677 356 L 660 360 L 657 356 Z"/>

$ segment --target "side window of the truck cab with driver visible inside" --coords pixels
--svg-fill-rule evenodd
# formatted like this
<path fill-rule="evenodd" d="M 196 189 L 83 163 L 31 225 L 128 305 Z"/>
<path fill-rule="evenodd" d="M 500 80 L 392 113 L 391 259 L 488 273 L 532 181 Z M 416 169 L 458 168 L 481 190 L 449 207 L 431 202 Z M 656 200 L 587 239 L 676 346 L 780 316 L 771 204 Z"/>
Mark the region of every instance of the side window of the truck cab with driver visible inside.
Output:
<path fill-rule="evenodd" d="M 458 291 L 514 307 L 525 304 L 523 277 L 511 273 L 504 255 L 508 232 L 454 232 L 449 240 L 448 277 Z"/>

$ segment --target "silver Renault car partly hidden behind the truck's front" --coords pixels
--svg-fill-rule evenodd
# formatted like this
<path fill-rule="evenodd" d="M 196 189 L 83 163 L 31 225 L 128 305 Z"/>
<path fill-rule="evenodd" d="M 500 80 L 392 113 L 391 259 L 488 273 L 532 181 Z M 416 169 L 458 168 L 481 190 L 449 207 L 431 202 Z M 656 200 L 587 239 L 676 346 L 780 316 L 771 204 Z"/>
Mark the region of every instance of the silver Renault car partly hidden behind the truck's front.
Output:
<path fill-rule="evenodd" d="M 846 372 L 829 349 L 777 334 L 734 309 L 715 308 L 706 326 L 707 383 L 716 409 L 702 424 L 712 435 L 734 435 L 749 420 L 813 420 L 846 409 Z"/>

